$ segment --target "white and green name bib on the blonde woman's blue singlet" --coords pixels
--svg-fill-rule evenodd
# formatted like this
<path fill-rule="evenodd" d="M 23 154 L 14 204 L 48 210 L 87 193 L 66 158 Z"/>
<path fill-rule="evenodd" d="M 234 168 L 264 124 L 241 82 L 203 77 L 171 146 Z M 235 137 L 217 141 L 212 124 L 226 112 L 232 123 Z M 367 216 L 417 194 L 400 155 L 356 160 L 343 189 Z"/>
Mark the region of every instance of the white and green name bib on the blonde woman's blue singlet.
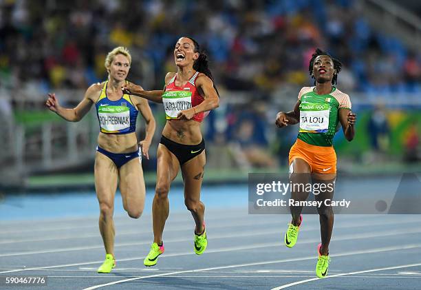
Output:
<path fill-rule="evenodd" d="M 125 106 L 102 105 L 98 118 L 103 132 L 124 132 L 130 129 L 130 109 Z"/>

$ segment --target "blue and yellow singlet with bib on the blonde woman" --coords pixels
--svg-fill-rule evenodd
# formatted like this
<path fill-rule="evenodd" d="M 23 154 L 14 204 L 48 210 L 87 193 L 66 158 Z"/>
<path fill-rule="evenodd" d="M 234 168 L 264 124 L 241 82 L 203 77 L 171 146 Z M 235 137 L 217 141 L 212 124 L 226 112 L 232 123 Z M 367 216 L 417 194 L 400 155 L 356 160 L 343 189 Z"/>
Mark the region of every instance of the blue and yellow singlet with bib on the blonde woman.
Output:
<path fill-rule="evenodd" d="M 110 101 L 107 98 L 107 84 L 108 81 L 102 87 L 100 97 L 95 103 L 101 132 L 106 134 L 136 132 L 138 109 L 131 103 L 128 94 L 123 94 L 118 101 Z"/>

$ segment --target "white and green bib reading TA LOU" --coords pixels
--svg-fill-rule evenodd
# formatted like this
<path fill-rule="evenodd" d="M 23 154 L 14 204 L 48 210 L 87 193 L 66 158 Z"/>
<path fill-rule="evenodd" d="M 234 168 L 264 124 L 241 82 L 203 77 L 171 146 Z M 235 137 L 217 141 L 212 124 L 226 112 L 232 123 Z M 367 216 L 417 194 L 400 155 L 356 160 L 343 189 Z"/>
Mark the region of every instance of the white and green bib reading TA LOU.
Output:
<path fill-rule="evenodd" d="M 329 105 L 326 103 L 300 104 L 300 132 L 325 133 L 329 127 Z"/>

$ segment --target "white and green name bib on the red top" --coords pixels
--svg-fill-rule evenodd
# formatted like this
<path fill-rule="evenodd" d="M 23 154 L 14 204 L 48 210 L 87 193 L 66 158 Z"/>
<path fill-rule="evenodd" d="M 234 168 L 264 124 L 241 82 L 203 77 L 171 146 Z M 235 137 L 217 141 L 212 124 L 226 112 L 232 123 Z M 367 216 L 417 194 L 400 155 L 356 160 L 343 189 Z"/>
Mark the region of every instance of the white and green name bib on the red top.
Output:
<path fill-rule="evenodd" d="M 162 95 L 167 119 L 177 118 L 178 113 L 191 108 L 190 91 L 169 91 Z"/>

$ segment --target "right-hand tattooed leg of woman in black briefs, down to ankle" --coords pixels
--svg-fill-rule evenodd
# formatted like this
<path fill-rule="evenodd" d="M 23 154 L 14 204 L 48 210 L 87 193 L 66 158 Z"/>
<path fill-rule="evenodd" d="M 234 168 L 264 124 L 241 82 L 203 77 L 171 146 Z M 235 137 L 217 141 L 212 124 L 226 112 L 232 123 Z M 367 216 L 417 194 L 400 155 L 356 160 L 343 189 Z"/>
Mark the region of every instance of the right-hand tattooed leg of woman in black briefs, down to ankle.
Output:
<path fill-rule="evenodd" d="M 201 154 L 182 165 L 184 203 L 195 220 L 196 234 L 202 234 L 204 231 L 203 221 L 205 206 L 202 201 L 200 201 L 200 188 L 202 187 L 205 164 L 206 155 L 203 151 Z"/>

